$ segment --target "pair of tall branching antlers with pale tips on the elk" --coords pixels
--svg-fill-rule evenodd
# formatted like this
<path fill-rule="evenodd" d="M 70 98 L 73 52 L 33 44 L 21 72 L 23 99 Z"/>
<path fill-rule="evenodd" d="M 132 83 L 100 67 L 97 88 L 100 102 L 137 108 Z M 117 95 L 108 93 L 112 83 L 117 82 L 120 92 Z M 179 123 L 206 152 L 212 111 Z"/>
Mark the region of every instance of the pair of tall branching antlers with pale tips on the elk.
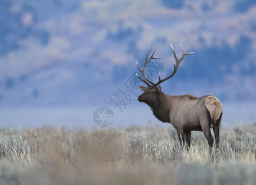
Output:
<path fill-rule="evenodd" d="M 172 74 L 170 74 L 169 76 L 167 76 L 166 78 L 164 79 L 161 79 L 161 74 L 159 73 L 159 81 L 157 83 L 153 83 L 152 81 L 149 81 L 147 76 L 144 74 L 144 68 L 146 67 L 146 65 L 148 63 L 145 62 L 144 66 L 143 66 L 143 70 L 141 72 L 141 70 L 139 69 L 138 67 L 138 62 L 137 62 L 137 67 L 139 69 L 139 72 L 141 72 L 141 74 L 143 75 L 144 77 L 144 80 L 141 79 L 138 74 L 136 73 L 136 75 L 138 76 L 139 80 L 143 81 L 144 83 L 148 84 L 148 86 L 150 86 L 152 84 L 152 86 L 158 86 L 159 84 L 161 84 L 162 82 L 168 80 L 169 78 L 172 78 L 172 76 L 174 76 L 174 74 L 177 72 L 178 68 L 179 68 L 179 65 L 180 65 L 180 62 L 182 62 L 182 60 L 184 59 L 184 57 L 186 55 L 190 55 L 190 54 L 193 54 L 194 52 L 188 52 L 188 53 L 185 53 L 185 51 L 183 50 L 183 47 L 182 45 L 180 44 L 180 47 L 182 48 L 182 57 L 180 57 L 180 59 L 177 58 L 177 55 L 175 54 L 175 51 L 174 51 L 174 47 L 172 46 L 172 44 L 170 44 L 170 47 L 172 47 L 172 52 L 174 53 L 174 58 L 175 58 L 175 63 L 174 63 L 174 71 L 172 72 Z M 149 48 L 148 48 L 149 50 Z M 156 52 L 156 48 L 154 49 L 154 52 Z M 151 55 L 152 59 L 162 59 L 162 58 L 154 58 L 153 55 L 154 55 L 154 52 L 153 54 Z M 146 59 L 148 57 L 148 52 L 147 52 L 147 55 L 146 55 Z M 150 58 L 151 60 L 151 58 Z M 149 60 L 149 61 L 150 61 Z M 147 61 L 147 60 L 146 60 Z M 148 61 L 148 62 L 149 62 Z M 150 83 L 150 84 L 149 84 Z"/>

